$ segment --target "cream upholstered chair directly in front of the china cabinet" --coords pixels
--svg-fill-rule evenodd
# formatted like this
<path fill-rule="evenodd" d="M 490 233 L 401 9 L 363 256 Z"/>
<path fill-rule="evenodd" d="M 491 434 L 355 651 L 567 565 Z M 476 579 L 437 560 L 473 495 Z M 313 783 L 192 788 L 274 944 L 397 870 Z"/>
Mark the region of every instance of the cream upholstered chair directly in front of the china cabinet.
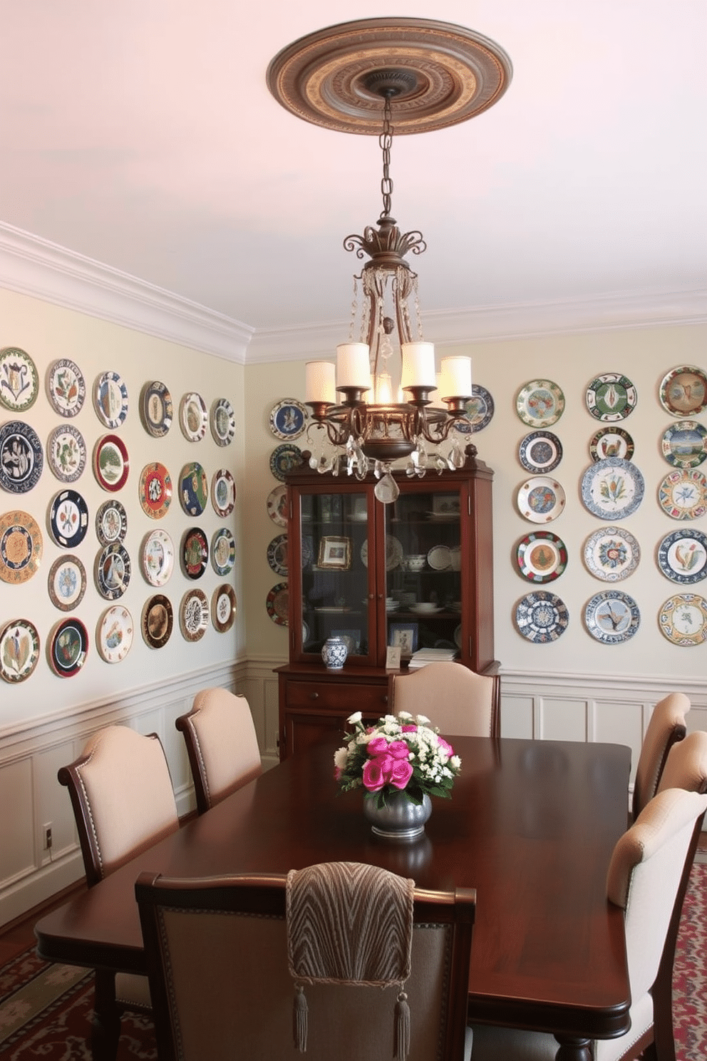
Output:
<path fill-rule="evenodd" d="M 476 674 L 461 663 L 428 663 L 411 674 L 391 675 L 391 713 L 426 715 L 445 736 L 498 736 L 498 677 Z"/>

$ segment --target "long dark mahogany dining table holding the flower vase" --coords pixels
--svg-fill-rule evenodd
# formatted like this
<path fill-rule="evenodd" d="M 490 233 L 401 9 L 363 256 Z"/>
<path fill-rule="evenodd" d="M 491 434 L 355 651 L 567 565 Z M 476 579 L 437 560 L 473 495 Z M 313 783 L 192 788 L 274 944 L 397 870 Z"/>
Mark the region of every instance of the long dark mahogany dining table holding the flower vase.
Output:
<path fill-rule="evenodd" d="M 629 748 L 452 737 L 461 775 L 411 843 L 371 833 L 360 790 L 338 794 L 331 741 L 303 750 L 147 848 L 36 925 L 49 961 L 144 972 L 134 885 L 363 862 L 422 888 L 476 888 L 470 1023 L 554 1033 L 559 1061 L 630 1027 L 623 911 L 606 870 L 626 828 Z"/>

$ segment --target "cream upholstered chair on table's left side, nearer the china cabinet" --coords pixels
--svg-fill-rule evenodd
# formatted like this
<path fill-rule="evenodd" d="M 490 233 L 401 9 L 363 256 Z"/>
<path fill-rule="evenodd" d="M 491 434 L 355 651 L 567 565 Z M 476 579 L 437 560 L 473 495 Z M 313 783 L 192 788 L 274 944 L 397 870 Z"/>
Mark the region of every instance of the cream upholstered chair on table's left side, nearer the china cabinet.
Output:
<path fill-rule="evenodd" d="M 175 720 L 184 735 L 196 806 L 204 814 L 263 771 L 250 708 L 245 696 L 204 689 L 188 715 Z"/>

